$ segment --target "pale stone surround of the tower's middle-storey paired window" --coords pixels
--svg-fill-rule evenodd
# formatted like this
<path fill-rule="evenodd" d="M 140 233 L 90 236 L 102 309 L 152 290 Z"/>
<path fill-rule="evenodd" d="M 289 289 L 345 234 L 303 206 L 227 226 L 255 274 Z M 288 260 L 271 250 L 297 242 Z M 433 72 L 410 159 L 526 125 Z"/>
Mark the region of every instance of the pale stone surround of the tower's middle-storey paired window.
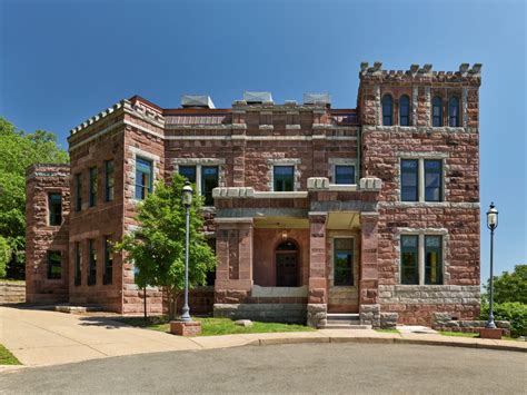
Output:
<path fill-rule="evenodd" d="M 396 169 L 396 182 L 397 182 L 397 196 L 400 203 L 405 204 L 412 204 L 412 203 L 426 203 L 426 204 L 438 204 L 446 201 L 446 175 L 447 175 L 447 164 L 446 158 L 448 158 L 447 154 L 443 152 L 430 152 L 430 154 L 421 154 L 421 152 L 405 152 L 398 155 L 398 162 Z M 417 160 L 417 200 L 416 201 L 408 201 L 402 200 L 402 170 L 401 170 L 401 161 L 402 160 Z M 439 201 L 428 201 L 425 200 L 425 160 L 440 160 L 441 161 L 441 199 Z"/>

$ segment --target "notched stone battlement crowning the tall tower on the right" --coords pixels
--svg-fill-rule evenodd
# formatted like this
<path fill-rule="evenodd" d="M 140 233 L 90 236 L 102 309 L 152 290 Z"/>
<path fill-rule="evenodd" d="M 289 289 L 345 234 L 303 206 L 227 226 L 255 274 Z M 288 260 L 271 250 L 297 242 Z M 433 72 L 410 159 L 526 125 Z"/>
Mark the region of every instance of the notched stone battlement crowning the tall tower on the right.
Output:
<path fill-rule="evenodd" d="M 458 71 L 434 71 L 432 65 L 426 63 L 422 67 L 411 65 L 409 70 L 384 70 L 379 61 L 369 66 L 368 62 L 360 63 L 360 82 L 385 82 L 385 83 L 405 83 L 405 82 L 463 82 L 470 85 L 480 85 L 481 63 L 461 63 Z"/>

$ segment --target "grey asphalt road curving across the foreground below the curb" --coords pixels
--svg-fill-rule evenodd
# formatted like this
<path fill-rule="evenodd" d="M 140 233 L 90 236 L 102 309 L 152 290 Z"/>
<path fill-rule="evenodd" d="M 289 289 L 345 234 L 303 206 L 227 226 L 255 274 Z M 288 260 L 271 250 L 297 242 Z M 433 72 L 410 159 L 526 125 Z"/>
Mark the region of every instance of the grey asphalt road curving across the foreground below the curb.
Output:
<path fill-rule="evenodd" d="M 443 346 L 298 344 L 22 368 L 0 393 L 526 394 L 527 355 Z"/>

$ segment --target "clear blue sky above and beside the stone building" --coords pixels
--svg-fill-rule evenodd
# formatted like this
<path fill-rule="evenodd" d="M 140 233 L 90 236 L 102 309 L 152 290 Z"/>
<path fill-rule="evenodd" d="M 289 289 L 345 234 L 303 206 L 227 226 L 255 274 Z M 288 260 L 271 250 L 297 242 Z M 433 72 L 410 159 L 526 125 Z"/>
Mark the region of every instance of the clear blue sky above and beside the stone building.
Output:
<path fill-rule="evenodd" d="M 355 107 L 359 62 L 387 69 L 481 62 L 481 211 L 500 211 L 496 270 L 527 263 L 524 1 L 0 0 L 0 116 L 69 129 L 132 95 L 178 107 L 243 90 L 276 101 L 329 92 Z M 481 277 L 488 230 L 481 217 Z"/>

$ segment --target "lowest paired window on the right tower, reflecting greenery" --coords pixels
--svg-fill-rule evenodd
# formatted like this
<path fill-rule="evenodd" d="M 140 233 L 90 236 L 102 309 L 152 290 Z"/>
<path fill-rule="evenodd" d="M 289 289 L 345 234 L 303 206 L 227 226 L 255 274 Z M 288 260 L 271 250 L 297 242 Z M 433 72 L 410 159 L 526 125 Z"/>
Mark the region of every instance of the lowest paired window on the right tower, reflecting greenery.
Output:
<path fill-rule="evenodd" d="M 443 235 L 400 236 L 400 284 L 443 284 Z"/>

